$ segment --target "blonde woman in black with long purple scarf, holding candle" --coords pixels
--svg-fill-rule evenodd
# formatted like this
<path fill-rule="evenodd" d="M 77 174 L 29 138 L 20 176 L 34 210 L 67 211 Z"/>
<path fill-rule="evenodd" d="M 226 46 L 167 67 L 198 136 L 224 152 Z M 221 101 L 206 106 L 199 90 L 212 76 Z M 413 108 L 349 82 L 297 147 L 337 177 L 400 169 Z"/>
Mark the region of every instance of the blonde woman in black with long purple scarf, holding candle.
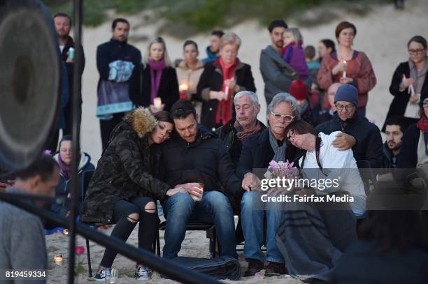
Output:
<path fill-rule="evenodd" d="M 153 113 L 168 111 L 178 100 L 176 69 L 169 59 L 162 37 L 150 40 L 143 64 L 131 78 L 129 96 L 134 104 L 149 107 Z"/>

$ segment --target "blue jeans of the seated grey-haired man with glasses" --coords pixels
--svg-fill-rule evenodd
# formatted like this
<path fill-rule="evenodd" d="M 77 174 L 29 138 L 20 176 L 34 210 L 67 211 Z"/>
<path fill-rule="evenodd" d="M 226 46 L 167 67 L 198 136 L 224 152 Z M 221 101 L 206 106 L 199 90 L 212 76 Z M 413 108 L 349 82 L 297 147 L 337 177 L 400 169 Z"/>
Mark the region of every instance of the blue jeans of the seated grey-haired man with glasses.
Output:
<path fill-rule="evenodd" d="M 284 263 L 284 257 L 276 246 L 276 232 L 283 214 L 283 202 L 262 202 L 265 192 L 247 191 L 241 200 L 241 222 L 245 237 L 244 257 L 264 262 L 263 220 L 266 214 L 266 260 Z"/>

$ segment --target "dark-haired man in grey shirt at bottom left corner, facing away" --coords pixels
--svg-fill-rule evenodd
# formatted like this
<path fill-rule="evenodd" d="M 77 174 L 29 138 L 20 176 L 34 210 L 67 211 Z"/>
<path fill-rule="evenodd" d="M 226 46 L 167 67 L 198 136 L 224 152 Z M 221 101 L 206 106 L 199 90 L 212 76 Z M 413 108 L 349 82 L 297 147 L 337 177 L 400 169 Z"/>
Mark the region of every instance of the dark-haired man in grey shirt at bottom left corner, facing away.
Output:
<path fill-rule="evenodd" d="M 58 181 L 57 162 L 51 156 L 43 154 L 26 170 L 16 174 L 15 184 L 6 188 L 6 193 L 54 197 Z M 43 202 L 36 204 L 45 207 Z M 45 230 L 38 216 L 0 201 L 0 232 L 0 270 L 47 269 Z M 33 283 L 45 281 L 38 280 Z"/>

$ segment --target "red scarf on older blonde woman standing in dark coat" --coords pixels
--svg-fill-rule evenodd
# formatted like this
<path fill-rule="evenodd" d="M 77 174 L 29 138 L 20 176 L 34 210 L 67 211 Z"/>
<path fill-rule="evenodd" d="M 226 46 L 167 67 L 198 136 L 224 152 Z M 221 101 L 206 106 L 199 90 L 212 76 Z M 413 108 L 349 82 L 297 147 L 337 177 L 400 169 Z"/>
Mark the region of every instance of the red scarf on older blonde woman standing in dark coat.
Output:
<path fill-rule="evenodd" d="M 227 79 L 234 77 L 236 65 L 238 65 L 238 59 L 231 64 L 224 64 L 222 57 L 219 57 L 215 63 L 220 63 L 223 74 L 223 86 L 222 91 L 226 91 L 226 84 L 224 82 Z M 217 105 L 217 113 L 215 114 L 215 123 L 216 124 L 225 124 L 231 119 L 232 113 L 232 90 L 229 89 L 229 94 L 227 94 L 227 100 L 220 100 Z"/>

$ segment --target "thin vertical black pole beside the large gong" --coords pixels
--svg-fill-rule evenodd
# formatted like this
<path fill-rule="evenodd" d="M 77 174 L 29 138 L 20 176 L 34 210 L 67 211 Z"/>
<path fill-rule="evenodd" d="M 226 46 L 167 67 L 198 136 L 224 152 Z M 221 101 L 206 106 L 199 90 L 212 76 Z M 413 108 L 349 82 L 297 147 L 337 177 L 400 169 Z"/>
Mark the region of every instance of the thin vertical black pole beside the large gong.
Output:
<path fill-rule="evenodd" d="M 73 1 L 73 15 L 74 15 L 74 68 L 73 68 L 73 143 L 71 145 L 72 163 L 71 163 L 71 211 L 70 211 L 70 246 L 69 246 L 69 284 L 74 283 L 74 264 L 76 261 L 76 216 L 78 215 L 78 198 L 79 184 L 78 184 L 78 165 L 80 160 L 80 115 L 78 110 L 80 108 L 80 96 L 82 89 L 82 75 L 80 73 L 82 65 L 82 50 L 80 49 L 82 38 L 82 0 Z"/>

